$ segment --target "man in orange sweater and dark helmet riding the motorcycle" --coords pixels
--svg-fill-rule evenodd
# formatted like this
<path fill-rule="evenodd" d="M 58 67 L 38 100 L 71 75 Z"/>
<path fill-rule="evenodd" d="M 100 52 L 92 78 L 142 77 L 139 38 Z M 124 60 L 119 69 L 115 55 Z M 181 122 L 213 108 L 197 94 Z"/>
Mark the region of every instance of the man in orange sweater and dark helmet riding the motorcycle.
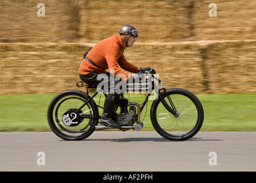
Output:
<path fill-rule="evenodd" d="M 112 73 L 115 77 L 118 74 L 125 75 L 125 79 L 128 81 L 128 74 L 124 73 L 119 66 L 131 73 L 138 73 L 137 75 L 139 75 L 139 71 L 143 71 L 141 67 L 127 62 L 123 54 L 125 47 L 132 47 L 136 41 L 138 37 L 137 30 L 132 25 L 124 25 L 121 27 L 119 34 L 119 36 L 113 35 L 100 41 L 86 54 L 79 67 L 79 75 L 82 81 L 90 85 L 98 85 L 101 81 L 97 81 L 97 76 L 99 74 L 106 74 L 106 69 L 115 70 L 115 73 Z M 108 75 L 108 80 L 109 78 Z M 105 98 L 100 124 L 120 128 L 121 126 L 112 120 L 115 102 L 119 97 L 119 94 L 115 92 L 115 85 L 117 83 L 115 81 L 114 86 L 110 84 L 109 90 L 113 92 L 109 92 Z"/>

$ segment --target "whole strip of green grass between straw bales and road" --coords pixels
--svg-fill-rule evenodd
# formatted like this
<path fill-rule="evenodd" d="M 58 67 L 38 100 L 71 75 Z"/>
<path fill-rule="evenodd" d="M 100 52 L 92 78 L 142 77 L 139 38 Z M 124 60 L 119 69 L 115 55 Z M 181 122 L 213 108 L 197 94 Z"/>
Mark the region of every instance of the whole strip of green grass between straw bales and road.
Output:
<path fill-rule="evenodd" d="M 0 132 L 50 131 L 46 112 L 55 94 L 0 96 Z M 204 108 L 201 131 L 256 131 L 256 94 L 197 94 Z M 129 98 L 128 95 L 126 98 Z M 130 101 L 142 104 L 143 95 L 130 95 Z M 99 95 L 95 98 L 99 102 Z M 104 96 L 101 97 L 101 106 Z M 141 114 L 143 130 L 154 130 L 149 112 L 152 100 Z M 100 114 L 102 109 L 100 109 Z"/>

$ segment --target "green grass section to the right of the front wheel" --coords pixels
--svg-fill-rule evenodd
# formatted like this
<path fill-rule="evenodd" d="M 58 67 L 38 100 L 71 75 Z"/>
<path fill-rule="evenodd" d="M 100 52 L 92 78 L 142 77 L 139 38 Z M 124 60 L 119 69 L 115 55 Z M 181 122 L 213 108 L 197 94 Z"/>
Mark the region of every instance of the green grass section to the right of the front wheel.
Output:
<path fill-rule="evenodd" d="M 200 94 L 203 131 L 256 131 L 256 94 Z"/>

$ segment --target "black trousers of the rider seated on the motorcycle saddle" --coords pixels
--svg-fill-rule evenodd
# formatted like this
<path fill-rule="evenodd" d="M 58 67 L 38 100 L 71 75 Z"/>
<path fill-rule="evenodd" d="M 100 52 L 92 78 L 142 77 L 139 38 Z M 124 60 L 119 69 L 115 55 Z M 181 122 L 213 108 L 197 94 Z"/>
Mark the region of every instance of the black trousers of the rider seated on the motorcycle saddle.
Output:
<path fill-rule="evenodd" d="M 108 95 L 105 98 L 105 103 L 104 103 L 104 109 L 103 109 L 103 113 L 108 113 L 108 114 L 112 114 L 115 104 L 116 104 L 116 100 L 119 97 L 119 94 L 117 94 L 115 92 L 115 87 L 117 85 L 117 83 L 119 83 L 120 81 L 116 81 L 116 79 L 110 79 L 111 75 L 110 73 L 107 72 L 107 76 L 108 79 L 105 81 L 99 81 L 97 80 L 97 77 L 100 73 L 89 73 L 86 75 L 80 75 L 80 78 L 82 79 L 82 81 L 88 83 L 89 85 L 99 85 L 99 83 L 101 82 L 108 82 Z M 113 75 L 112 75 L 113 77 Z M 111 81 L 113 80 L 113 82 L 111 83 Z M 106 89 L 105 89 L 106 90 Z"/>

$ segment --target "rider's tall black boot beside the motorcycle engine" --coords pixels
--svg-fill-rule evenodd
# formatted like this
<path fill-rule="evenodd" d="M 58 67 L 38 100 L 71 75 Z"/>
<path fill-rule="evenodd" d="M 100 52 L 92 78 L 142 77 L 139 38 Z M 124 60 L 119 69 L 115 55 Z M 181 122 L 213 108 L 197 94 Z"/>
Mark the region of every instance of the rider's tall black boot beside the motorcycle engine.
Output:
<path fill-rule="evenodd" d="M 115 128 L 121 128 L 121 125 L 117 124 L 115 121 L 112 120 L 112 114 L 114 111 L 114 106 L 116 99 L 119 97 L 118 94 L 108 94 L 105 99 L 103 114 L 101 116 L 100 124 L 112 126 Z"/>

